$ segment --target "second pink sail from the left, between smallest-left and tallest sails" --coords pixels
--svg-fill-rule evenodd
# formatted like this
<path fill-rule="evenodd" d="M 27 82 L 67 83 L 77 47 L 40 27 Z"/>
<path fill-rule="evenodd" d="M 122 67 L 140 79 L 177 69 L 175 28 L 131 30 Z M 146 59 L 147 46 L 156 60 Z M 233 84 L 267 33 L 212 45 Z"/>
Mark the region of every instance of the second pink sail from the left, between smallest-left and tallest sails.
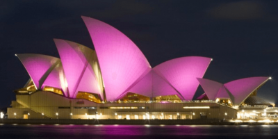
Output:
<path fill-rule="evenodd" d="M 93 51 L 67 40 L 54 39 L 54 42 L 63 64 L 69 97 L 75 98 L 82 91 L 99 94 L 103 99 L 93 65 L 89 63 L 93 61 Z"/>

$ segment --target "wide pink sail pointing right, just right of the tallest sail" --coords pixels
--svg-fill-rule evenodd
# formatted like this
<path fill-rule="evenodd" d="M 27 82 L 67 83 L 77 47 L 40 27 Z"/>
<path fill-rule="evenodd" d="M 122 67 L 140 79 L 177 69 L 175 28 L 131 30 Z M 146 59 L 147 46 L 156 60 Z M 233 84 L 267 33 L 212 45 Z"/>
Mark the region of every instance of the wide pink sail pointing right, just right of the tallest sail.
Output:
<path fill-rule="evenodd" d="M 202 78 L 211 58 L 188 56 L 168 60 L 154 67 L 154 72 L 169 83 L 183 100 L 192 100 L 199 81 Z"/>

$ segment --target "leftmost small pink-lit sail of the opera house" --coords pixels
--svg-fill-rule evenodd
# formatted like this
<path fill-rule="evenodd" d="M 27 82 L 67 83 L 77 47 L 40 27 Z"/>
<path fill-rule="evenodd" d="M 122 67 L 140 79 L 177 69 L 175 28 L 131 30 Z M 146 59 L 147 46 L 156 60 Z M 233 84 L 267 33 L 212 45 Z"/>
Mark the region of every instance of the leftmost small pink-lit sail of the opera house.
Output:
<path fill-rule="evenodd" d="M 60 62 L 59 58 L 42 54 L 17 54 L 16 56 L 24 65 L 37 89 L 42 87 L 49 73 Z"/>

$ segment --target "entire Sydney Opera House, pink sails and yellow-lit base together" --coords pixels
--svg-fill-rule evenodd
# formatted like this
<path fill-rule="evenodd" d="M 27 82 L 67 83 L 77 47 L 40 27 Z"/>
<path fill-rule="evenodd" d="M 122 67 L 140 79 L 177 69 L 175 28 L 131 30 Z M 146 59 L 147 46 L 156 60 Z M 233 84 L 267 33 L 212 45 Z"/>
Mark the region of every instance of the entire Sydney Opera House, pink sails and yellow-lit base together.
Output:
<path fill-rule="evenodd" d="M 151 67 L 126 35 L 97 19 L 82 18 L 95 50 L 54 39 L 60 58 L 16 54 L 30 79 L 14 91 L 8 118 L 233 119 L 240 108 L 270 105 L 256 97 L 269 77 L 224 84 L 203 79 L 212 58 L 200 56 Z M 199 85 L 204 94 L 193 100 Z"/>

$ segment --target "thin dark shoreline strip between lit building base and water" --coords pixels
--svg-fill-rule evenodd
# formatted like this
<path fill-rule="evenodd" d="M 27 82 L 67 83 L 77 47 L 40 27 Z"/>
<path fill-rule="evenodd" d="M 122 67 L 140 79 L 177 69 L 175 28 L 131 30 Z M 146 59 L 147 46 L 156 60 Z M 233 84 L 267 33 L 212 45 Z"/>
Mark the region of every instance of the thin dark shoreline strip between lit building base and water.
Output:
<path fill-rule="evenodd" d="M 68 120 L 68 119 L 2 119 L 0 124 L 119 124 L 119 125 L 265 125 L 278 124 L 278 122 L 248 122 L 231 120 Z"/>

